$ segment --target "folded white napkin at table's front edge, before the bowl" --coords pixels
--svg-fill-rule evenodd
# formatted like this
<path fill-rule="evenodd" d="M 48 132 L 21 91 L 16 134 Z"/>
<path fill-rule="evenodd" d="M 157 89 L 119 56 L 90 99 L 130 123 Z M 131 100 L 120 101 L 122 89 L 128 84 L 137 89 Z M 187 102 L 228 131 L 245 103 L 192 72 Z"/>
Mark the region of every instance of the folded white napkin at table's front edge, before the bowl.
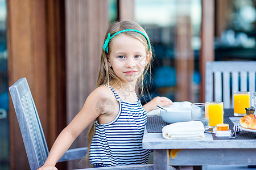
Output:
<path fill-rule="evenodd" d="M 200 121 L 177 122 L 164 126 L 165 139 L 204 139 L 204 125 Z"/>

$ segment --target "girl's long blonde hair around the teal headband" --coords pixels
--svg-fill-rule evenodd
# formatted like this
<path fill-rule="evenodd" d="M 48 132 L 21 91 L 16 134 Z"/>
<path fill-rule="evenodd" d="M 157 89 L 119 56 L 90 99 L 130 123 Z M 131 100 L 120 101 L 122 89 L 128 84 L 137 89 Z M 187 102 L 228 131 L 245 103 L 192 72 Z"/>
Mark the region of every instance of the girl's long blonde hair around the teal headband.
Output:
<path fill-rule="evenodd" d="M 118 32 L 118 31 L 122 31 L 123 29 L 136 29 L 138 31 L 143 32 L 144 35 L 146 35 L 148 37 L 146 31 L 144 31 L 144 29 L 139 24 L 128 21 L 128 20 L 124 20 L 121 22 L 113 22 L 112 24 L 110 24 L 109 29 L 106 32 L 104 41 L 107 39 L 109 33 L 110 33 L 110 35 L 114 35 L 114 33 Z M 146 53 L 147 54 L 150 53 L 149 62 L 146 65 L 146 67 L 143 71 L 143 74 L 137 80 L 137 87 L 140 90 L 140 95 L 142 95 L 143 91 L 145 91 L 143 88 L 143 77 L 147 73 L 148 69 L 150 68 L 150 62 L 152 61 L 150 40 L 148 39 L 148 41 L 147 41 L 146 37 L 144 37 L 141 33 L 138 33 L 138 32 L 134 32 L 134 31 L 122 32 L 122 33 L 119 33 L 118 35 L 114 36 L 109 41 L 109 53 L 111 53 L 111 42 L 121 34 L 125 34 L 127 36 L 138 39 L 145 46 Z M 149 44 L 148 44 L 148 42 L 149 42 Z M 108 54 L 109 53 L 106 53 L 102 48 L 100 70 L 98 72 L 96 88 L 103 84 L 108 84 L 108 85 L 111 84 L 112 86 L 117 87 L 117 88 L 122 87 L 121 80 L 114 73 L 114 71 L 112 69 L 110 69 L 110 67 L 108 65 L 108 59 L 109 59 Z M 87 133 L 87 137 L 88 137 L 88 152 L 86 155 L 87 160 L 89 160 L 89 148 L 90 148 L 90 143 L 92 142 L 92 138 L 93 138 L 94 134 L 95 134 L 95 121 L 92 123 L 92 126 L 90 126 L 90 129 Z"/>

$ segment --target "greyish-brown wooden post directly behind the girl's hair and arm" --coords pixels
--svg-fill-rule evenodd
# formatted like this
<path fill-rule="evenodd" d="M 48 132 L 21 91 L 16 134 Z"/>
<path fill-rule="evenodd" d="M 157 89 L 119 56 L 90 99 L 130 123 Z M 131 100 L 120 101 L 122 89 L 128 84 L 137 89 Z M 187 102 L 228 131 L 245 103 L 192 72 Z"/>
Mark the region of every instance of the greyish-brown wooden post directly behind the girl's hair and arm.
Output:
<path fill-rule="evenodd" d="M 67 0 L 65 11 L 69 124 L 96 86 L 102 45 L 109 25 L 108 1 Z M 72 148 L 87 146 L 88 129 L 76 139 Z M 68 165 L 68 169 L 77 168 L 82 168 L 79 167 L 79 160 Z"/>

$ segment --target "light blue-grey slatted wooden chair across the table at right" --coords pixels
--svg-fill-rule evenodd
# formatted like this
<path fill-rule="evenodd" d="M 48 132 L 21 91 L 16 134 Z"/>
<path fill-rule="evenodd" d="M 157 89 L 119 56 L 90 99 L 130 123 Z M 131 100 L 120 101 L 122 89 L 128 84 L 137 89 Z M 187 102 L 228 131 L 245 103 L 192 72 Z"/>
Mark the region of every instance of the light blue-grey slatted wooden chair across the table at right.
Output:
<path fill-rule="evenodd" d="M 234 91 L 255 91 L 256 61 L 213 61 L 205 65 L 205 101 L 233 108 Z"/>

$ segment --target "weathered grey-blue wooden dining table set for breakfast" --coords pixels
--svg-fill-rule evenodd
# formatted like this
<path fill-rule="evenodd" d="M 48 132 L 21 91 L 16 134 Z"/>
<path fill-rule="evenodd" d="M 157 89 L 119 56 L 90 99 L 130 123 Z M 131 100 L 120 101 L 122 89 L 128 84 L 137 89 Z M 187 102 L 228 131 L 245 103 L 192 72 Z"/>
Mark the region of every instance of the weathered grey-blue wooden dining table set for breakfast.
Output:
<path fill-rule="evenodd" d="M 241 117 L 224 109 L 224 123 L 232 130 Z M 148 116 L 142 146 L 154 152 L 154 169 L 175 166 L 256 165 L 256 130 L 243 130 L 237 138 L 216 137 L 205 131 L 203 139 L 165 139 L 162 128 L 168 125 L 160 116 Z"/>

